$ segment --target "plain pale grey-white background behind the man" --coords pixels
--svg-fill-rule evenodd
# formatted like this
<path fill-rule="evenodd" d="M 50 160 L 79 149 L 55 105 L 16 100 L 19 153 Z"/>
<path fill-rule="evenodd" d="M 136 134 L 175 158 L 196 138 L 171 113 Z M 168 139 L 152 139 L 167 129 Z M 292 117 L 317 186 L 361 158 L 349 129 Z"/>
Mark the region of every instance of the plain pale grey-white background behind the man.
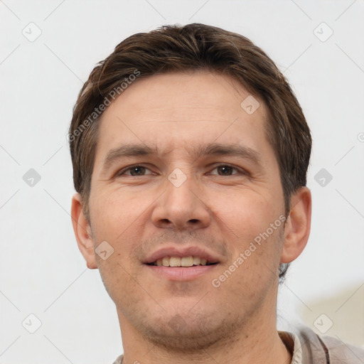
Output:
<path fill-rule="evenodd" d="M 326 334 L 364 345 L 363 1 L 4 0 L 0 11 L 0 363 L 112 363 L 122 353 L 114 304 L 73 235 L 66 133 L 95 64 L 166 23 L 241 33 L 288 77 L 313 134 L 314 202 L 309 244 L 279 292 L 279 327 L 332 322 Z M 30 168 L 41 176 L 33 187 Z M 333 176 L 326 186 L 321 168 Z"/>

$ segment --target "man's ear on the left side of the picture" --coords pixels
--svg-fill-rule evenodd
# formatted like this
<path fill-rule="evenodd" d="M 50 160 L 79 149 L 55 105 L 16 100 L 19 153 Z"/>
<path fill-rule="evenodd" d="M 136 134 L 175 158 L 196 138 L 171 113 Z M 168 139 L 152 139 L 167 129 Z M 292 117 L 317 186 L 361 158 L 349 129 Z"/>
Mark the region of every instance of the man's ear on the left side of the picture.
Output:
<path fill-rule="evenodd" d="M 78 249 L 80 249 L 80 252 L 86 260 L 87 268 L 95 269 L 97 268 L 95 248 L 92 242 L 90 224 L 82 212 L 80 193 L 76 193 L 72 198 L 71 217 Z"/>

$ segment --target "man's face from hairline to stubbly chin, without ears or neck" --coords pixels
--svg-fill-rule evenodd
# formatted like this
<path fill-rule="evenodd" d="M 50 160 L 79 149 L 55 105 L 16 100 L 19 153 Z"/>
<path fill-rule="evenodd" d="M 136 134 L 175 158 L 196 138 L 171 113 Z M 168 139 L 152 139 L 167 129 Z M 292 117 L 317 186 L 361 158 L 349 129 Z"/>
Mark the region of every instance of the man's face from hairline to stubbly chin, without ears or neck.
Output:
<path fill-rule="evenodd" d="M 249 95 L 222 75 L 155 75 L 134 82 L 102 115 L 90 228 L 95 247 L 106 241 L 114 252 L 96 255 L 97 266 L 121 326 L 154 343 L 191 348 L 274 316 L 284 198 L 264 133 L 267 109 L 261 100 L 253 113 L 256 105 L 240 106 Z M 115 153 L 129 144 L 155 154 Z M 243 153 L 212 153 L 210 144 Z M 146 264 L 161 256 L 215 264 Z"/>

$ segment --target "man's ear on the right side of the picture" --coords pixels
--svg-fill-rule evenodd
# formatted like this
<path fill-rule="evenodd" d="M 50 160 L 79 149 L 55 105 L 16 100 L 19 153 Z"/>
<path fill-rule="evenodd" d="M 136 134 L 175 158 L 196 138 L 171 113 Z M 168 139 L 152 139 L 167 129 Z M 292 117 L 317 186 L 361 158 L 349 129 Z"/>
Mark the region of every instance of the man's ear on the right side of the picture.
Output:
<path fill-rule="evenodd" d="M 291 210 L 284 230 L 281 263 L 290 263 L 299 257 L 309 240 L 311 229 L 311 191 L 299 188 L 291 197 Z"/>

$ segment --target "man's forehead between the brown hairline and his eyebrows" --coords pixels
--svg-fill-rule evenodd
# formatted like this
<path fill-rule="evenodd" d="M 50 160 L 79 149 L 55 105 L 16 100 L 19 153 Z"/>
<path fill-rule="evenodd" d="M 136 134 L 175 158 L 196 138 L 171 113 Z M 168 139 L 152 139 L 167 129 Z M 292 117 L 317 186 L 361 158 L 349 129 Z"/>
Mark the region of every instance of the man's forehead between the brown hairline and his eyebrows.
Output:
<path fill-rule="evenodd" d="M 246 109 L 246 104 L 257 108 Z M 249 106 L 249 105 L 248 105 Z M 269 151 L 267 110 L 232 78 L 215 73 L 171 73 L 129 85 L 102 114 L 96 161 L 123 143 L 144 144 L 168 154 L 199 145 L 242 144 Z"/>

